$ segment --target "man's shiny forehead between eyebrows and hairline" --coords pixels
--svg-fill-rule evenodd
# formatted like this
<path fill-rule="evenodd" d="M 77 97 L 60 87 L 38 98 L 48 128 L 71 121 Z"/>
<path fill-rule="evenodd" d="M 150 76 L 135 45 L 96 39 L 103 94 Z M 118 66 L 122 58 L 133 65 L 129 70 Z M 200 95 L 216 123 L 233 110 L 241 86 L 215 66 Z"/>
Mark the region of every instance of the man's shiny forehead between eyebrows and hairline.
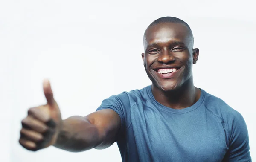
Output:
<path fill-rule="evenodd" d="M 189 29 L 181 23 L 160 23 L 149 26 L 144 35 L 144 43 L 176 41 L 189 43 Z"/>

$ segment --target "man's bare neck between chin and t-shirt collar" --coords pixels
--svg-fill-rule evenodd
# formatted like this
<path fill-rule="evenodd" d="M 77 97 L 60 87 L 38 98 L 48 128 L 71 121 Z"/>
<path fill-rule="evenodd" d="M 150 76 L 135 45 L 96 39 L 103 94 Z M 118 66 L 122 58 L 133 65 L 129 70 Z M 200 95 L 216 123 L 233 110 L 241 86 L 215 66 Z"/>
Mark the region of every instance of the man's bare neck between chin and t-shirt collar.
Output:
<path fill-rule="evenodd" d="M 194 87 L 193 79 L 190 78 L 182 87 L 169 92 L 163 92 L 156 86 L 152 86 L 152 93 L 160 104 L 173 109 L 183 109 L 199 100 L 201 90 Z"/>

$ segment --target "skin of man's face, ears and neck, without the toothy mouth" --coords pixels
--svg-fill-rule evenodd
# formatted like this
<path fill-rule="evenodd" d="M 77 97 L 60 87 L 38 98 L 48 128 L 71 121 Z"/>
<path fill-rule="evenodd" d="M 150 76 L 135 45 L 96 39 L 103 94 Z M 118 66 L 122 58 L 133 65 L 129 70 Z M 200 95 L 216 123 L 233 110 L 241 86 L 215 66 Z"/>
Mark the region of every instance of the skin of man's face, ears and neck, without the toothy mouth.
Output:
<path fill-rule="evenodd" d="M 152 81 L 154 98 L 166 107 L 182 109 L 195 104 L 201 91 L 194 87 L 192 64 L 196 64 L 199 49 L 193 49 L 193 38 L 181 23 L 161 23 L 150 26 L 144 37 L 142 53 L 145 70 Z M 172 78 L 160 78 L 157 69 L 177 67 Z"/>

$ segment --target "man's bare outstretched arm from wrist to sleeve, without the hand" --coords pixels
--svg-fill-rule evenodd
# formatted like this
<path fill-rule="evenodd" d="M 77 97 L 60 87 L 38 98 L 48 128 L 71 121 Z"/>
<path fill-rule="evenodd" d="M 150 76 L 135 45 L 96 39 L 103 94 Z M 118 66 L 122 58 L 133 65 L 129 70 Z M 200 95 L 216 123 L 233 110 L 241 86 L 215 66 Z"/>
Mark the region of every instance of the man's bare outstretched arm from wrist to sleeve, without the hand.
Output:
<path fill-rule="evenodd" d="M 72 116 L 63 121 L 54 146 L 71 152 L 108 148 L 116 142 L 120 125 L 119 115 L 110 109 L 99 110 L 85 117 Z"/>

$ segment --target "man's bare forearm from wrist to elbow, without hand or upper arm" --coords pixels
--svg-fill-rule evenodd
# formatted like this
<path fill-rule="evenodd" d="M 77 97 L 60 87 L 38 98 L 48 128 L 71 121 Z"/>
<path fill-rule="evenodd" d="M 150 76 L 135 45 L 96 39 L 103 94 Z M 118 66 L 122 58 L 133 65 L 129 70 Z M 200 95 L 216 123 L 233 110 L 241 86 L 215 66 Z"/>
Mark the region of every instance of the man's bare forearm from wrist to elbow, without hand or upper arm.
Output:
<path fill-rule="evenodd" d="M 80 152 L 95 148 L 100 142 L 99 132 L 93 124 L 84 117 L 72 116 L 63 120 L 54 146 L 70 152 Z"/>

